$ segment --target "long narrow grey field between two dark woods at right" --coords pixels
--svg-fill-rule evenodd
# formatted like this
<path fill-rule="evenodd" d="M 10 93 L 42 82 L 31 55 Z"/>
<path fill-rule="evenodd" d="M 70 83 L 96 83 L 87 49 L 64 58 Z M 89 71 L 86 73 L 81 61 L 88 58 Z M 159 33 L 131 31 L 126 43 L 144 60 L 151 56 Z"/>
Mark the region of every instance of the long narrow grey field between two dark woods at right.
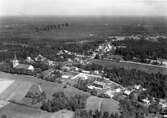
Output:
<path fill-rule="evenodd" d="M 167 74 L 167 68 L 164 67 L 158 67 L 158 66 L 152 66 L 148 64 L 139 64 L 139 63 L 130 63 L 130 62 L 115 62 L 115 61 L 109 61 L 109 60 L 93 60 L 92 61 L 95 64 L 100 64 L 107 68 L 124 68 L 124 69 L 136 69 L 148 73 L 162 73 Z"/>

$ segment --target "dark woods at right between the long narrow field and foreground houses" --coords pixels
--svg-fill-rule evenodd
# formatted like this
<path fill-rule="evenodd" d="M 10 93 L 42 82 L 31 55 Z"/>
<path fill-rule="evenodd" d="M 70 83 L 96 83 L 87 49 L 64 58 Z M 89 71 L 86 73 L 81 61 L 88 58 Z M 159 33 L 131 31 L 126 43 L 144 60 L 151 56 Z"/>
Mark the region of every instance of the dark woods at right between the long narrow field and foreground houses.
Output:
<path fill-rule="evenodd" d="M 123 68 L 104 69 L 103 76 L 125 87 L 140 84 L 146 93 L 155 98 L 167 97 L 167 76 L 160 73 L 149 74 L 138 70 Z"/>

